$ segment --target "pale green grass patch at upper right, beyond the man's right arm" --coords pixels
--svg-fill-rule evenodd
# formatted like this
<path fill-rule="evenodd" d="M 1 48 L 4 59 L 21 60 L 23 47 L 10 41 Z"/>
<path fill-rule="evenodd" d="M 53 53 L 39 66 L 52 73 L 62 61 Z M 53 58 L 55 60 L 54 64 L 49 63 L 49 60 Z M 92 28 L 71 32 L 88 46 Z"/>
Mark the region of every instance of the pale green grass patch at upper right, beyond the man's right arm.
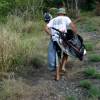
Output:
<path fill-rule="evenodd" d="M 88 14 L 88 16 L 87 16 L 87 13 L 82 14 L 81 21 L 78 23 L 78 29 L 80 31 L 95 32 L 99 30 L 99 25 L 100 25 L 99 17 L 94 16 L 92 14 Z"/>

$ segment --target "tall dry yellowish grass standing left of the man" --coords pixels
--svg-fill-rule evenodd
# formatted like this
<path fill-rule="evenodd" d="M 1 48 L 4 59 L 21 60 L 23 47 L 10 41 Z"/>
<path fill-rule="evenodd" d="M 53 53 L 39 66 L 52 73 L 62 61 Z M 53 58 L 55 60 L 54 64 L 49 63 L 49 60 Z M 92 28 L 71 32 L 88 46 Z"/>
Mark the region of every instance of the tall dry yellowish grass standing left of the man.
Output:
<path fill-rule="evenodd" d="M 37 54 L 46 56 L 46 53 L 43 55 L 46 51 L 46 48 L 43 48 L 47 43 L 42 35 L 44 26 L 41 21 L 24 22 L 16 16 L 10 16 L 8 19 L 6 24 L 0 25 L 1 72 L 13 71 L 17 69 L 15 66 L 28 64 Z"/>

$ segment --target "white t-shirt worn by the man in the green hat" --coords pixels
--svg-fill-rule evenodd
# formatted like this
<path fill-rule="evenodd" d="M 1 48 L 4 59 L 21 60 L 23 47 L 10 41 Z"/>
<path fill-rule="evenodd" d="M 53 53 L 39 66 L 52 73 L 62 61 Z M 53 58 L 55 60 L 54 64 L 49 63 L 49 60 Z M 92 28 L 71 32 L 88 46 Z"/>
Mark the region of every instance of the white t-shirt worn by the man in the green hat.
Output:
<path fill-rule="evenodd" d="M 59 29 L 62 32 L 67 32 L 69 24 L 71 23 L 71 19 L 67 16 L 57 16 L 53 18 L 48 24 L 47 27 L 54 27 Z M 51 28 L 51 34 L 53 35 L 53 40 L 55 41 L 57 36 L 57 31 Z"/>

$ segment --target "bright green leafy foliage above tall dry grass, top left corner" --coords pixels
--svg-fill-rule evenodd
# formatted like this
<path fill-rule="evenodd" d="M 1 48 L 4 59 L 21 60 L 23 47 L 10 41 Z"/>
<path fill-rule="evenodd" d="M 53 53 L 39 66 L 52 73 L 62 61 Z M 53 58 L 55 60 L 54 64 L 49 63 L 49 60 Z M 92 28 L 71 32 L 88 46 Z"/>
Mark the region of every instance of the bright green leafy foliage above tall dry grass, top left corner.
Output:
<path fill-rule="evenodd" d="M 0 16 L 14 14 L 27 19 L 33 19 L 42 15 L 43 7 L 43 0 L 1 0 Z"/>

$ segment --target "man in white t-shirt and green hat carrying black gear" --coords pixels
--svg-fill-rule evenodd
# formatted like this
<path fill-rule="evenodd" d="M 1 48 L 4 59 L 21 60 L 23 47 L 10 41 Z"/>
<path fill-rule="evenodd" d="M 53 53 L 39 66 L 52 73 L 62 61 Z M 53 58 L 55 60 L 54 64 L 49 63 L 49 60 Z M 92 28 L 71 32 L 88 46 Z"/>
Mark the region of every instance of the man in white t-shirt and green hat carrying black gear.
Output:
<path fill-rule="evenodd" d="M 68 27 L 71 27 L 72 31 L 74 33 L 77 33 L 77 29 L 75 24 L 71 21 L 71 19 L 66 15 L 66 11 L 64 8 L 59 8 L 57 12 L 57 17 L 53 18 L 45 27 L 45 31 L 50 35 L 51 40 L 53 41 L 53 47 L 55 51 L 57 52 L 56 55 L 56 80 L 60 79 L 60 66 L 65 66 L 67 62 L 68 55 L 64 54 L 62 61 L 59 61 L 59 57 L 61 57 L 61 52 L 59 53 L 60 47 L 57 44 L 57 31 L 52 29 L 52 27 L 67 33 Z M 52 59 L 52 58 L 51 58 Z M 60 62 L 60 63 L 59 63 Z"/>

